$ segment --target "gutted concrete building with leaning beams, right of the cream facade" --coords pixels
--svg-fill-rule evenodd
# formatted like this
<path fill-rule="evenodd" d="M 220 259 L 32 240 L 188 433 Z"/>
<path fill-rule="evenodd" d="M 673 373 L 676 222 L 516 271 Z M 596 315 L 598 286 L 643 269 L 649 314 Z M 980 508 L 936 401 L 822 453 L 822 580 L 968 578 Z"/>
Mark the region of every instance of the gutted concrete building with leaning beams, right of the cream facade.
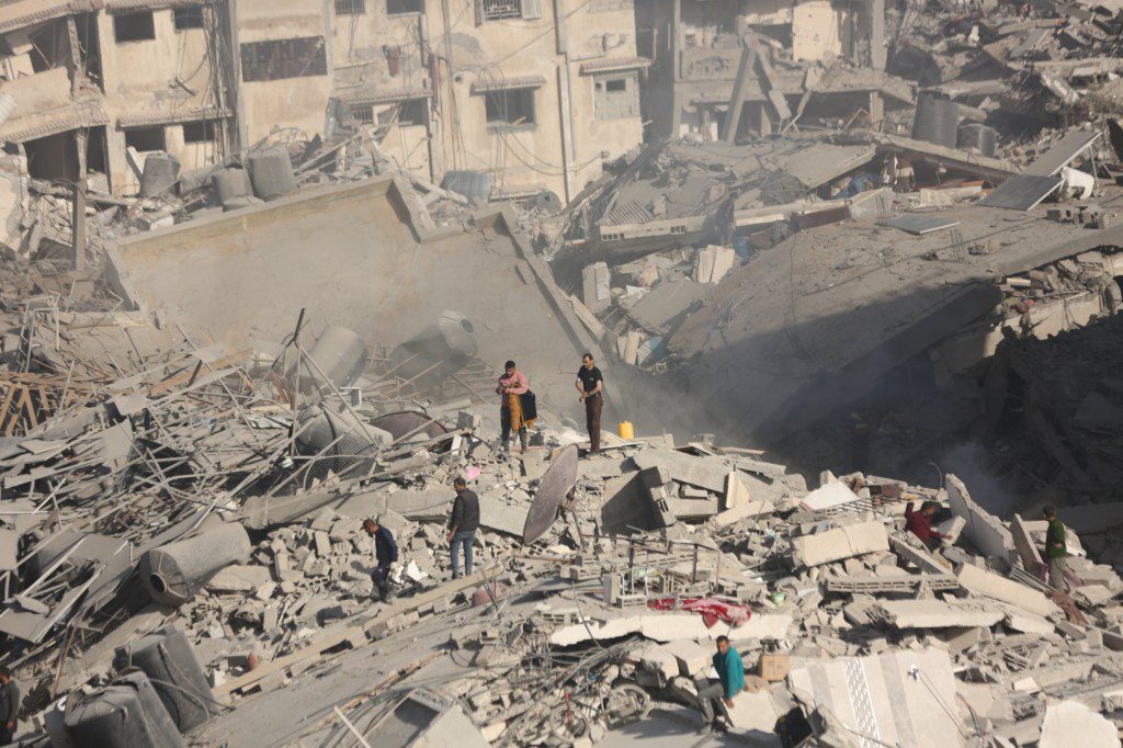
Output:
<path fill-rule="evenodd" d="M 647 110 L 656 137 L 767 136 L 791 120 L 788 97 L 800 113 L 809 103 L 846 103 L 871 122 L 886 106 L 913 103 L 883 72 L 884 0 L 655 0 L 637 6 L 637 20 L 640 52 L 652 60 Z M 833 60 L 858 70 L 824 74 L 821 64 Z"/>

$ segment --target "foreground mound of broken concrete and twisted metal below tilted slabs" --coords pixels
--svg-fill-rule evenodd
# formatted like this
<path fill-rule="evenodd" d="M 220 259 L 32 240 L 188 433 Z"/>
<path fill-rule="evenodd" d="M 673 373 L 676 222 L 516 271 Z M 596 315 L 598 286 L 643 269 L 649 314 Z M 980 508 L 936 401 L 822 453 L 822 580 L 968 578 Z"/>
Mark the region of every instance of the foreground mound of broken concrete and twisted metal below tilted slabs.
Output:
<path fill-rule="evenodd" d="M 691 732 L 725 635 L 752 673 L 728 710 L 747 741 L 1117 745 L 1112 505 L 1061 509 L 1080 538 L 1058 592 L 1044 523 L 988 513 L 951 475 L 809 490 L 706 436 L 605 434 L 578 460 L 549 403 L 508 456 L 492 405 L 405 396 L 340 328 L 228 352 L 21 309 L 0 630 L 30 741 L 110 740 L 107 713 L 131 745 Z M 456 476 L 482 530 L 454 580 Z M 920 501 L 953 538 L 939 553 L 903 529 Z M 401 549 L 389 603 L 371 600 L 372 516 Z"/>

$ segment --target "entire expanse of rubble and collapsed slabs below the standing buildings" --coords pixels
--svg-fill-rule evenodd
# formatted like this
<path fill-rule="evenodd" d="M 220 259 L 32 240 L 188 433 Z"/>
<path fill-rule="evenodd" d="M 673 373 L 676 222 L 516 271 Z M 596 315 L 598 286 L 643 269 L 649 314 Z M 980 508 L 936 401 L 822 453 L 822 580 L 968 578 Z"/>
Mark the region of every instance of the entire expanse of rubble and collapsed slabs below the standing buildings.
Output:
<path fill-rule="evenodd" d="M 77 210 L 0 158 L 19 740 L 1120 746 L 1123 11 L 889 6 L 885 72 L 772 40 L 804 81 L 782 127 L 648 144 L 563 210 L 438 188 L 355 124 Z M 968 129 L 928 139 L 922 98 Z M 275 146 L 280 208 L 223 199 Z M 391 209 L 353 194 L 369 224 L 323 236 L 331 190 L 375 182 Z M 146 275 L 121 252 L 146 239 L 190 259 Z M 501 448 L 502 358 L 456 348 L 477 332 L 536 370 L 526 450 Z M 586 347 L 595 455 L 568 399 Z M 482 527 L 453 578 L 458 476 Z M 922 502 L 934 549 L 905 529 Z M 746 687 L 702 736 L 719 636 Z"/>

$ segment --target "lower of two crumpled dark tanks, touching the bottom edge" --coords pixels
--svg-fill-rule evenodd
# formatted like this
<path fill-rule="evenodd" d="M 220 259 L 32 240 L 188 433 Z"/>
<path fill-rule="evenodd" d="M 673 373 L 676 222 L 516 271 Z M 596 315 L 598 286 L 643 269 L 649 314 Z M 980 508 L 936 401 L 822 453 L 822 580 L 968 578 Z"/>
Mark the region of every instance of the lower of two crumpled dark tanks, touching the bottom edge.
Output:
<path fill-rule="evenodd" d="M 117 677 L 111 684 L 79 702 L 66 715 L 66 735 L 77 748 L 183 748 L 148 676 L 139 671 Z"/>

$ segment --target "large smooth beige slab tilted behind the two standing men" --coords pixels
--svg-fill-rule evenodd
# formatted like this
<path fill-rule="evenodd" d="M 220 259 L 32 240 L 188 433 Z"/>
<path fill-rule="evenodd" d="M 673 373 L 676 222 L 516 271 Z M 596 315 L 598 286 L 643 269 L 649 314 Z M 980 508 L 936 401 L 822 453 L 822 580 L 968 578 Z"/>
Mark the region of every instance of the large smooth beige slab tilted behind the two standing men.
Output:
<path fill-rule="evenodd" d="M 394 346 L 454 304 L 482 358 L 533 361 L 538 392 L 572 386 L 594 341 L 511 217 L 474 224 L 426 230 L 408 188 L 381 177 L 129 237 L 109 249 L 106 279 L 131 304 L 238 343 L 281 339 L 307 309 L 313 326 Z M 491 323 L 511 314 L 520 322 L 502 334 Z"/>

